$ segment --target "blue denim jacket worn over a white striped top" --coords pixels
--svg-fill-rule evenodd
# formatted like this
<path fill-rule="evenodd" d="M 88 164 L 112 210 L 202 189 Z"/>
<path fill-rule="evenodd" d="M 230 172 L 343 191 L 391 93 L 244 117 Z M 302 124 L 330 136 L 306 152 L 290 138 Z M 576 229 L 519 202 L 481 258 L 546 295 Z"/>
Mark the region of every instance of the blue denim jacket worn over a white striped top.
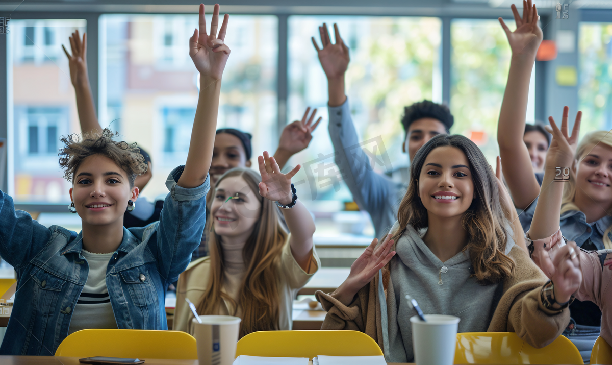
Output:
<path fill-rule="evenodd" d="M 187 268 L 204 230 L 209 177 L 185 189 L 175 168 L 166 186 L 159 222 L 123 228 L 123 239 L 106 268 L 106 287 L 117 326 L 168 329 L 165 292 Z M 87 281 L 81 233 L 47 228 L 28 213 L 15 211 L 0 195 L 0 255 L 17 271 L 17 293 L 1 355 L 54 355 L 68 336 L 70 318 Z"/>

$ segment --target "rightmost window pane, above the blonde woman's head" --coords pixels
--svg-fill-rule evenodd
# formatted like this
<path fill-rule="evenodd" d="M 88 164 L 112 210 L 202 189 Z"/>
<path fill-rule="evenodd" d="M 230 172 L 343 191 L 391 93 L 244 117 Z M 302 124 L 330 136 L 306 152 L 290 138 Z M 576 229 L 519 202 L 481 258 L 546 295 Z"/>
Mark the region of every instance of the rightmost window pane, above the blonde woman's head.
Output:
<path fill-rule="evenodd" d="M 612 129 L 612 23 L 580 23 L 578 108 L 582 130 Z"/>

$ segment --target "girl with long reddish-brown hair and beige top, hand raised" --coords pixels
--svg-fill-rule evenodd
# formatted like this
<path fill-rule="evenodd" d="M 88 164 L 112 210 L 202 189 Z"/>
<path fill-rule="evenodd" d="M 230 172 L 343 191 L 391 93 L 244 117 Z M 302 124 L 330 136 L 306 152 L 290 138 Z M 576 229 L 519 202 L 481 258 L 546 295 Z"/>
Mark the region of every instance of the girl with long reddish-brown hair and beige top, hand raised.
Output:
<path fill-rule="evenodd" d="M 233 168 L 218 179 L 211 205 L 211 255 L 181 274 L 173 329 L 193 333 L 185 298 L 195 303 L 198 314 L 241 317 L 241 337 L 291 329 L 293 298 L 321 266 L 312 241 L 315 222 L 291 184 L 300 166 L 280 173 L 267 152 L 258 162 L 261 177 Z M 291 235 L 280 225 L 277 206 Z"/>

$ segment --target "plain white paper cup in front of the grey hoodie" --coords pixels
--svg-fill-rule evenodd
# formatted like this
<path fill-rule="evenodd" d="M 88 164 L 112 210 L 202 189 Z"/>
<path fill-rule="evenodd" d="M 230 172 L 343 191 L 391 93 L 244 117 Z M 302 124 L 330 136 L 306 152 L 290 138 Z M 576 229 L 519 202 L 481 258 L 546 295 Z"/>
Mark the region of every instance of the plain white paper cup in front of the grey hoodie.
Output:
<path fill-rule="evenodd" d="M 427 322 L 418 315 L 412 323 L 412 351 L 417 365 L 452 365 L 455 360 L 459 317 L 425 314 Z"/>

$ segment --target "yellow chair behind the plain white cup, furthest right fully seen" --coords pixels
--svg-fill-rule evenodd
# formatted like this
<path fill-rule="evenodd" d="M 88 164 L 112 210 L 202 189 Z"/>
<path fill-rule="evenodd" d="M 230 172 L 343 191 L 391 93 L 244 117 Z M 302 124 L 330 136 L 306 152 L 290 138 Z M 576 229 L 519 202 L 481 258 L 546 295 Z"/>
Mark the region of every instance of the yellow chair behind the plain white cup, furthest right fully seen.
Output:
<path fill-rule="evenodd" d="M 455 364 L 568 364 L 583 365 L 572 341 L 559 336 L 550 345 L 535 348 L 512 332 L 458 333 Z"/>

